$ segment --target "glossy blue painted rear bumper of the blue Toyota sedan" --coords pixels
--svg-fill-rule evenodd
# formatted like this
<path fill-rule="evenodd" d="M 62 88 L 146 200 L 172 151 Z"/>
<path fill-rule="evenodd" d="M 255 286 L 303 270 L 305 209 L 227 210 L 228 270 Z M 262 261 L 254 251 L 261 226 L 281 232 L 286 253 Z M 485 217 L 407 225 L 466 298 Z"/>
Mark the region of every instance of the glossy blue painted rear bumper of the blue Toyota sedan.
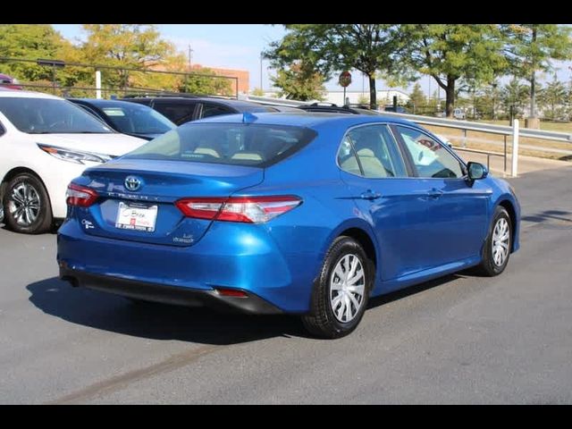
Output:
<path fill-rule="evenodd" d="M 214 223 L 192 246 L 164 246 L 90 235 L 72 218 L 58 231 L 57 261 L 80 284 L 111 278 L 133 288 L 155 285 L 151 295 L 163 296 L 157 288 L 166 288 L 204 292 L 207 299 L 217 288 L 243 290 L 284 313 L 306 313 L 319 257 L 303 248 L 285 251 L 277 234 L 263 225 Z"/>

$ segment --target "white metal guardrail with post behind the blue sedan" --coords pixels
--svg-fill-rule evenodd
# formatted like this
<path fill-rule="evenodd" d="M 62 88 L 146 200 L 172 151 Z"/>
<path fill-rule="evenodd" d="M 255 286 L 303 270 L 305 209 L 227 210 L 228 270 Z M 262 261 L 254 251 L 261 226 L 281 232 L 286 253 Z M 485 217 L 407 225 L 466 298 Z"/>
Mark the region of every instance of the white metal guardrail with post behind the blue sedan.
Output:
<path fill-rule="evenodd" d="M 255 103 L 259 103 L 262 105 L 282 105 L 282 106 L 289 106 L 289 107 L 296 107 L 298 105 L 310 105 L 314 103 L 313 101 L 304 102 L 299 100 L 288 100 L 285 98 L 273 98 L 273 97 L 257 97 L 257 96 L 240 96 L 239 99 L 252 101 Z M 458 150 L 463 150 L 467 152 L 475 152 L 484 154 L 487 156 L 487 166 L 490 164 L 490 156 L 503 156 L 504 158 L 504 172 L 507 172 L 507 137 L 511 137 L 511 147 L 512 147 L 512 154 L 511 156 L 512 163 L 511 163 L 511 176 L 517 177 L 518 172 L 518 141 L 519 137 L 531 138 L 531 139 L 545 139 L 545 140 L 552 140 L 564 143 L 572 143 L 572 134 L 568 134 L 565 132 L 556 132 L 556 131 L 545 131 L 545 130 L 531 130 L 531 129 L 520 129 L 518 126 L 518 120 L 514 120 L 513 126 L 503 126 L 503 125 L 492 125 L 490 123 L 481 123 L 481 122 L 470 122 L 470 121 L 458 121 L 456 119 L 445 119 L 445 118 L 433 118 L 431 116 L 420 116 L 416 114 L 398 114 L 393 112 L 381 112 L 378 111 L 379 114 L 383 114 L 386 116 L 394 116 L 403 119 L 407 119 L 411 122 L 416 122 L 423 125 L 433 125 L 436 127 L 444 127 L 444 128 L 451 128 L 463 131 L 463 137 L 461 137 L 463 141 L 463 147 L 454 147 Z M 497 134 L 504 136 L 504 154 L 501 155 L 495 152 L 487 152 L 481 150 L 474 150 L 474 149 L 467 149 L 465 148 L 466 141 L 467 141 L 467 131 L 479 131 L 485 132 L 490 134 Z M 527 146 L 526 148 L 533 148 Z M 534 147 L 537 150 L 543 150 L 543 147 Z M 544 148 L 548 152 L 561 152 L 566 154 L 572 154 L 572 147 L 571 150 L 565 149 L 555 149 L 555 148 Z"/>

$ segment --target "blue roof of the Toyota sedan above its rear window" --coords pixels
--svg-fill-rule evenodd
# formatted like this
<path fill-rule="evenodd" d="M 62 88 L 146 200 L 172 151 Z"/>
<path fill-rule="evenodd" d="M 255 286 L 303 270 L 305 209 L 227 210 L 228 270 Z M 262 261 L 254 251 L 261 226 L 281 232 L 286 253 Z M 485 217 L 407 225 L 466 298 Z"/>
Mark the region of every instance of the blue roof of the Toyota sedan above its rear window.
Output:
<path fill-rule="evenodd" d="M 254 118 L 253 118 L 254 116 Z M 248 118 L 250 118 L 248 120 Z M 187 122 L 182 126 L 187 126 L 193 123 L 206 123 L 206 122 L 219 122 L 219 123 L 240 123 L 245 119 L 245 114 L 225 114 L 220 116 L 209 116 L 208 118 L 201 119 L 195 122 Z M 252 121 L 254 119 L 254 121 Z M 248 114 L 248 122 L 256 122 L 265 125 L 290 125 L 298 127 L 315 128 L 327 124 L 336 124 L 346 127 L 351 127 L 354 125 L 368 123 L 368 122 L 391 122 L 404 125 L 414 125 L 414 122 L 410 122 L 401 118 L 379 115 L 369 115 L 369 114 L 323 114 L 315 112 L 300 112 L 297 113 L 260 113 L 260 114 Z"/>

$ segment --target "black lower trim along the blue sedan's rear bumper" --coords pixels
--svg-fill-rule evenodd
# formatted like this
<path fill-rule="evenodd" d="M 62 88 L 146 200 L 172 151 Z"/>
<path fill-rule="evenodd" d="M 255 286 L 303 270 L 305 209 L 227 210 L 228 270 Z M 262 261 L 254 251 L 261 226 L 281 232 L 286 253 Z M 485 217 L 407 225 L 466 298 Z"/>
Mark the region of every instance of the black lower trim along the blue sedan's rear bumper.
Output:
<path fill-rule="evenodd" d="M 74 287 L 102 290 L 132 299 L 144 299 L 186 307 L 206 306 L 223 311 L 240 311 L 258 315 L 282 313 L 282 310 L 252 292 L 246 292 L 246 297 L 229 297 L 221 295 L 217 290 L 192 290 L 164 284 L 139 282 L 119 277 L 84 273 L 63 266 L 60 266 L 60 278 L 70 282 Z"/>

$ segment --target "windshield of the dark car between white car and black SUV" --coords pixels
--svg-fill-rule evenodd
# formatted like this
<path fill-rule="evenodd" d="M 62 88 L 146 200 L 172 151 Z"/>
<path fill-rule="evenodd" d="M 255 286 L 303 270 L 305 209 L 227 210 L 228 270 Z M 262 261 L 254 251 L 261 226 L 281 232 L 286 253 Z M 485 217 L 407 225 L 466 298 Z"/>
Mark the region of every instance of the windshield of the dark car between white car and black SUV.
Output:
<path fill-rule="evenodd" d="M 106 105 L 102 112 L 111 121 L 116 130 L 125 133 L 163 134 L 176 125 L 147 105 L 124 103 L 122 105 Z"/>

